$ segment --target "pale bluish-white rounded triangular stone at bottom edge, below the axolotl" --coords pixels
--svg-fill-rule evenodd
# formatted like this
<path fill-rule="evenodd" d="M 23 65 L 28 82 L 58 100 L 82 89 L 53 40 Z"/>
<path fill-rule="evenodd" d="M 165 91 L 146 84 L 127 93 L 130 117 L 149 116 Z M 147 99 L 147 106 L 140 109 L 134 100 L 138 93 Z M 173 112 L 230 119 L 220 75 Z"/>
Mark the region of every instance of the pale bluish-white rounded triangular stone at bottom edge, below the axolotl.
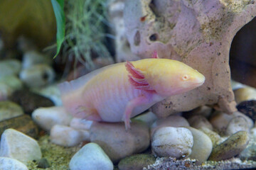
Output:
<path fill-rule="evenodd" d="M 114 165 L 95 143 L 83 146 L 70 160 L 70 170 L 113 170 Z"/>

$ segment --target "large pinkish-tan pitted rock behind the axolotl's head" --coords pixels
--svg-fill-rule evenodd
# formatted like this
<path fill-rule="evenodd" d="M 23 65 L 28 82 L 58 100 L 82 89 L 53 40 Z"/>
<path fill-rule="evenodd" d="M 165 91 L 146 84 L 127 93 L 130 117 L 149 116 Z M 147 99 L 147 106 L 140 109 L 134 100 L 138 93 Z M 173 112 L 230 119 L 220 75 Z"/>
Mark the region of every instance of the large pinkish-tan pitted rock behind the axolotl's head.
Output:
<path fill-rule="evenodd" d="M 153 113 L 166 117 L 205 104 L 236 111 L 230 44 L 255 16 L 255 1 L 125 1 L 124 27 L 134 55 L 146 58 L 157 50 L 160 58 L 184 62 L 206 77 L 203 86 L 157 103 Z"/>

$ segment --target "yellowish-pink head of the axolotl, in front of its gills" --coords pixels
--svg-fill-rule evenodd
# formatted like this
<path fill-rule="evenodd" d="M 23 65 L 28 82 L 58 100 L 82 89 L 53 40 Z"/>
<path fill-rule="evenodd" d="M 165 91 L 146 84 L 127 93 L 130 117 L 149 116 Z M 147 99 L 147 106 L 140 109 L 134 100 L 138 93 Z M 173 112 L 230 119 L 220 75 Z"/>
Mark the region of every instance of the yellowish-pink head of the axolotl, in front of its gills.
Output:
<path fill-rule="evenodd" d="M 201 86 L 205 77 L 188 65 L 169 59 L 157 59 L 146 69 L 146 80 L 161 96 L 173 96 Z"/>

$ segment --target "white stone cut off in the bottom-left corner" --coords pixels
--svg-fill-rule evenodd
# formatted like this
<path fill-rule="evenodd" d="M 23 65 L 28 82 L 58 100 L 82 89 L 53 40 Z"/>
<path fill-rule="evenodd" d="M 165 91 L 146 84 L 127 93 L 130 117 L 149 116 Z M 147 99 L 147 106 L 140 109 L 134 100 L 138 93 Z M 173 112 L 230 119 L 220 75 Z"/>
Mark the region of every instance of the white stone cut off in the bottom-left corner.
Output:
<path fill-rule="evenodd" d="M 0 157 L 1 170 L 28 170 L 28 167 L 17 159 Z"/>

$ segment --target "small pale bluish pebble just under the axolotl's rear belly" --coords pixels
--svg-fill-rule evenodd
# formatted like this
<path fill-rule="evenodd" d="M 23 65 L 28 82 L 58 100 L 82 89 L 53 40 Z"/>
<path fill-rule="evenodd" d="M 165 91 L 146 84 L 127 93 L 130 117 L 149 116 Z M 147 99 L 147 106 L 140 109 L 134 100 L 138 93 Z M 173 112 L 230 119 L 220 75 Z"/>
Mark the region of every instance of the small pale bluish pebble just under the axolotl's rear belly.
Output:
<path fill-rule="evenodd" d="M 70 122 L 70 127 L 75 128 L 77 130 L 90 130 L 92 123 L 92 120 L 86 120 L 83 118 L 73 118 Z"/>

